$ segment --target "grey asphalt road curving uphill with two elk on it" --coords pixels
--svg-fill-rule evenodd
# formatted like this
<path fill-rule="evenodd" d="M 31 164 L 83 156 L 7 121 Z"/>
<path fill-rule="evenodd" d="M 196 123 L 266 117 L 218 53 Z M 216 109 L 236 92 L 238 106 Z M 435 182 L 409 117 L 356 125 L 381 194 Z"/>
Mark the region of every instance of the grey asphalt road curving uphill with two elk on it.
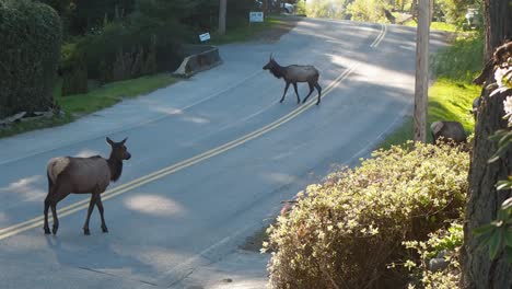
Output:
<path fill-rule="evenodd" d="M 1 288 L 177 288 L 236 250 L 307 183 L 350 165 L 412 109 L 416 30 L 304 20 L 278 43 L 220 47 L 224 63 L 58 128 L 0 140 Z M 432 33 L 432 49 L 444 43 Z M 263 71 L 321 71 L 324 99 L 298 105 Z M 300 85 L 305 96 L 307 85 Z M 107 157 L 105 136 L 132 154 L 82 233 L 89 196 L 61 201 L 43 233 L 46 162 Z M 186 286 L 186 285 L 185 285 Z"/>

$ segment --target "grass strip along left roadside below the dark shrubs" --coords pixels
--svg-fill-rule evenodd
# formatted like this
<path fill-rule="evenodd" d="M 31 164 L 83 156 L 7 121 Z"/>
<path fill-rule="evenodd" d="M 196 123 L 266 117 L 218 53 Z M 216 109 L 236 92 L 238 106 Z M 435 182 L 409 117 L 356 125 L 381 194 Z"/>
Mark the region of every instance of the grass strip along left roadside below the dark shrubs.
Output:
<path fill-rule="evenodd" d="M 60 95 L 60 84 L 56 85 L 54 97 L 60 108 L 66 113 L 63 117 L 53 117 L 32 122 L 21 122 L 0 129 L 0 138 L 16 134 L 60 126 L 73 122 L 80 116 L 91 114 L 102 108 L 112 106 L 125 97 L 135 97 L 148 94 L 160 88 L 164 88 L 176 82 L 170 73 L 161 73 L 150 77 L 141 77 L 125 81 L 112 82 L 89 93 L 69 96 Z"/>

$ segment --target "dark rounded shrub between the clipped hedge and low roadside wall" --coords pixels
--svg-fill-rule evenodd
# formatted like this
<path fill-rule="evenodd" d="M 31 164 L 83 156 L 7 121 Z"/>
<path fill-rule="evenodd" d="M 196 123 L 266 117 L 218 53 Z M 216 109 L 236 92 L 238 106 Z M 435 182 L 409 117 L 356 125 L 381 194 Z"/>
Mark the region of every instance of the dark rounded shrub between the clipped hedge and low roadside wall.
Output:
<path fill-rule="evenodd" d="M 69 72 L 83 62 L 90 79 L 107 83 L 176 69 L 182 60 L 178 47 L 158 27 L 116 21 L 79 39 L 61 66 L 71 68 Z"/>

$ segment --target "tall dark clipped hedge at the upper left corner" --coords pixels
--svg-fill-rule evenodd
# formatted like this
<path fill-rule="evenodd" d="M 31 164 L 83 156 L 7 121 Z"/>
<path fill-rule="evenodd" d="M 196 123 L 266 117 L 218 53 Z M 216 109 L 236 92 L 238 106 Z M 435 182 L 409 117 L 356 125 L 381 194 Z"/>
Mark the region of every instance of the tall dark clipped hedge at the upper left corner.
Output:
<path fill-rule="evenodd" d="M 50 7 L 0 5 L 0 117 L 53 106 L 60 42 L 60 20 Z"/>

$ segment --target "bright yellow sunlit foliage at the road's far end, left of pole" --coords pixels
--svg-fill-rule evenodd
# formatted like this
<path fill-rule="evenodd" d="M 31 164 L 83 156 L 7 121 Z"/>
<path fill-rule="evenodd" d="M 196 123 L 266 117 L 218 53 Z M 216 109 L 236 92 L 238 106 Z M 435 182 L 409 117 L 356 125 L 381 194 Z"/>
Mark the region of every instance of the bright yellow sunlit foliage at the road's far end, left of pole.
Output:
<path fill-rule="evenodd" d="M 347 13 L 352 15 L 354 21 L 365 22 L 388 22 L 384 10 L 391 10 L 392 7 L 385 0 L 354 0 L 347 7 Z"/>

